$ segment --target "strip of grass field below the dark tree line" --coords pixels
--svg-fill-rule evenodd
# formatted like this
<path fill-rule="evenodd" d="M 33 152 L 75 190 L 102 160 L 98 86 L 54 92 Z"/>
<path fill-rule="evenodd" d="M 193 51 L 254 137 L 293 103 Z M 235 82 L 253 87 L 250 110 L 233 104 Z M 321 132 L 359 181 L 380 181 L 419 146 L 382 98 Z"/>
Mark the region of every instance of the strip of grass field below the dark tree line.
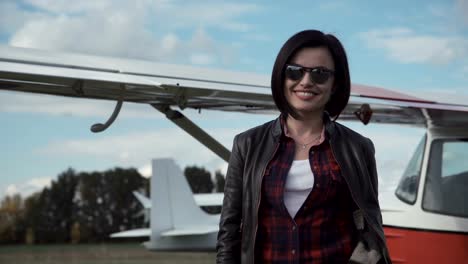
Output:
<path fill-rule="evenodd" d="M 146 264 L 214 263 L 214 252 L 148 251 L 141 244 L 0 246 L 5 264 Z"/>

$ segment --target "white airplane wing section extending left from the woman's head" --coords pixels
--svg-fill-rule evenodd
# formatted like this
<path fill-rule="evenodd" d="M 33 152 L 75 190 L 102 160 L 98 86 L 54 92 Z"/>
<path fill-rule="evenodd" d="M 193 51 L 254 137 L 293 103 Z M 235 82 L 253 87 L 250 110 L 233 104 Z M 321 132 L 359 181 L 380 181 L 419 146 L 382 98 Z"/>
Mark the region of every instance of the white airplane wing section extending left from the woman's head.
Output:
<path fill-rule="evenodd" d="M 0 88 L 14 91 L 249 111 L 274 109 L 268 87 L 249 73 L 0 46 Z"/>

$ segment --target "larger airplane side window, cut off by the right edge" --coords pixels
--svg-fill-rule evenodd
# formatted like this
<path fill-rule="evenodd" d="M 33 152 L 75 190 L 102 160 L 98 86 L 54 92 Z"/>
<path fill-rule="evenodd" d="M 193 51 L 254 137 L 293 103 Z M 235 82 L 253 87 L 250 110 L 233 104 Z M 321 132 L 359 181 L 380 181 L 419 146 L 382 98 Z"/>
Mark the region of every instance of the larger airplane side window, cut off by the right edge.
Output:
<path fill-rule="evenodd" d="M 423 209 L 468 216 L 468 141 L 436 140 L 431 147 Z"/>

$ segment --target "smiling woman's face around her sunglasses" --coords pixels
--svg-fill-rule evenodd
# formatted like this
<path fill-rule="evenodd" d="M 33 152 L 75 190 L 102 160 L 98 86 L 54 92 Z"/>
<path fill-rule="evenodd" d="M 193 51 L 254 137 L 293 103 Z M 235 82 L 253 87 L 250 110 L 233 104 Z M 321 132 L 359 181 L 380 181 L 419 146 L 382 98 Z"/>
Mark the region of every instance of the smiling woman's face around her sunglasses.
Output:
<path fill-rule="evenodd" d="M 335 70 L 335 63 L 326 47 L 302 48 L 296 52 L 288 65 Z M 332 94 L 333 74 L 323 84 L 313 82 L 310 74 L 305 71 L 302 78 L 298 80 L 292 80 L 286 74 L 284 80 L 286 100 L 301 117 L 317 114 L 321 116 Z"/>

